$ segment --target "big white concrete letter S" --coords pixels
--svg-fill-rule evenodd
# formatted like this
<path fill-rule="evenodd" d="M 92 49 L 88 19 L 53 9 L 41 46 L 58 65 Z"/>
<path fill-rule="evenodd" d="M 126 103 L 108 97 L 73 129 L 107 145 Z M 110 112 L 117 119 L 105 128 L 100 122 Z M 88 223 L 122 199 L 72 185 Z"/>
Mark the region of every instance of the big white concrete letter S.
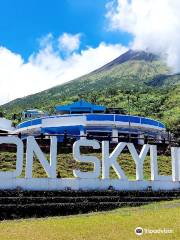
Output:
<path fill-rule="evenodd" d="M 87 146 L 93 149 L 99 149 L 100 145 L 96 140 L 78 140 L 73 144 L 73 158 L 78 162 L 86 162 L 94 164 L 93 172 L 81 172 L 80 170 L 73 170 L 73 175 L 79 178 L 98 178 L 100 175 L 101 164 L 95 156 L 83 156 L 80 153 L 80 147 Z"/>

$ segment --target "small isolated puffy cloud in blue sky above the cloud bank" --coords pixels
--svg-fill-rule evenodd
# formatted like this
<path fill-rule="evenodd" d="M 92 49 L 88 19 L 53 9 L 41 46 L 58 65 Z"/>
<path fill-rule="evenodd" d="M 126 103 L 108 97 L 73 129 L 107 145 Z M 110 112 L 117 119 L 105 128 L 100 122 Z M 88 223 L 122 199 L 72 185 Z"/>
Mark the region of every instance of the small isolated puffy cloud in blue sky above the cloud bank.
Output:
<path fill-rule="evenodd" d="M 70 53 L 78 50 L 80 46 L 80 36 L 81 34 L 72 35 L 70 33 L 63 33 L 58 39 L 59 49 Z"/>

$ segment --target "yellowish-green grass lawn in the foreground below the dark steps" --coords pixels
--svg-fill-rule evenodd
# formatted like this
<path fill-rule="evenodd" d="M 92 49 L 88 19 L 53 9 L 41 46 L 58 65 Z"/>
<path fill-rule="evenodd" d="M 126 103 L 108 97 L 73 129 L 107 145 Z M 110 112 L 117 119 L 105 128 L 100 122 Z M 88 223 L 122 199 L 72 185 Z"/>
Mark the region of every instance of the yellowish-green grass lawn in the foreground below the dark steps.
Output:
<path fill-rule="evenodd" d="M 132 240 L 180 239 L 180 200 L 101 213 L 0 222 L 0 239 L 7 240 Z M 172 229 L 170 234 L 136 236 L 136 227 Z"/>

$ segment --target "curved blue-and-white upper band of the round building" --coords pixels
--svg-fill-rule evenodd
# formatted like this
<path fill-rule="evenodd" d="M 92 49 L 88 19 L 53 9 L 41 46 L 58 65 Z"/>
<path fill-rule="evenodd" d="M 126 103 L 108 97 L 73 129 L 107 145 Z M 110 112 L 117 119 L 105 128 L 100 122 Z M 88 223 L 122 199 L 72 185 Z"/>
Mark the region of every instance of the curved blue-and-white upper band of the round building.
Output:
<path fill-rule="evenodd" d="M 49 116 L 44 118 L 36 118 L 20 123 L 16 132 L 32 133 L 33 131 L 39 133 L 63 134 L 64 130 L 68 130 L 69 134 L 78 134 L 80 130 L 87 130 L 89 128 L 96 128 L 102 131 L 103 129 L 116 128 L 118 131 L 129 132 L 162 132 L 165 131 L 165 125 L 159 121 L 120 114 L 66 114 L 58 116 Z M 75 131 L 76 129 L 76 131 Z"/>

